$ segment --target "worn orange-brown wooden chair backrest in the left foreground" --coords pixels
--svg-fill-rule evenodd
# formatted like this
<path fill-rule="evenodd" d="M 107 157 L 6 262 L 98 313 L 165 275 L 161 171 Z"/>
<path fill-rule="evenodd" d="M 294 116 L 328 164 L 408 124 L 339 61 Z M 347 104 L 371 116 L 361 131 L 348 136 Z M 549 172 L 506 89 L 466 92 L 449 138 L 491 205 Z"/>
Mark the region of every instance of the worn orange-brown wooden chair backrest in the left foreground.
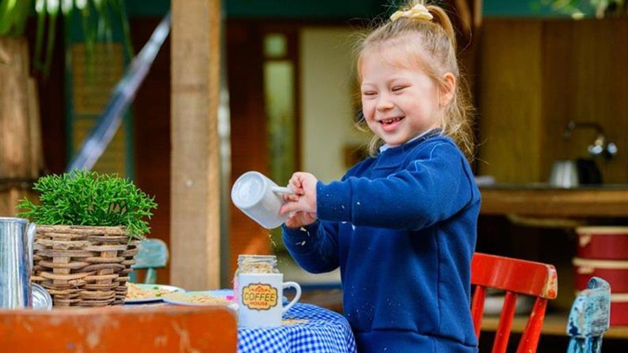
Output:
<path fill-rule="evenodd" d="M 0 311 L 11 352 L 236 352 L 236 316 L 224 306 Z"/>

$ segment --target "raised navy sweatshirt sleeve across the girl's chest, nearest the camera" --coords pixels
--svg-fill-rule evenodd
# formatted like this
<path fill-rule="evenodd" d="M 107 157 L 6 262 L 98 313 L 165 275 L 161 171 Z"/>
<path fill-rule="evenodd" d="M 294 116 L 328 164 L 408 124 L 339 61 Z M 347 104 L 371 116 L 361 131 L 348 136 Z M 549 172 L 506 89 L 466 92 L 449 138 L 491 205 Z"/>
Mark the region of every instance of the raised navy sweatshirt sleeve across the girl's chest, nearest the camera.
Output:
<path fill-rule="evenodd" d="M 479 199 L 465 165 L 455 146 L 441 142 L 386 178 L 349 177 L 327 185 L 319 181 L 318 218 L 355 226 L 425 228 Z"/>

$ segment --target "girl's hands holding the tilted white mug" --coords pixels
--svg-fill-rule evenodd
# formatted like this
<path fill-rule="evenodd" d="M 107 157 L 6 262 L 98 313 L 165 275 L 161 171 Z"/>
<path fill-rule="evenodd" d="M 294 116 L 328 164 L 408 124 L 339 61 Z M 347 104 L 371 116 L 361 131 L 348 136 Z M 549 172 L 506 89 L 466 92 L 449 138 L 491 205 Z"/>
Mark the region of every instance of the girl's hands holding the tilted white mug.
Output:
<path fill-rule="evenodd" d="M 316 220 L 316 183 L 318 179 L 310 173 L 296 172 L 288 182 L 288 187 L 294 190 L 295 195 L 286 195 L 286 203 L 279 210 L 280 215 L 290 212 L 314 213 Z M 296 214 L 295 214 L 296 215 Z M 312 216 L 308 216 L 312 218 Z"/>

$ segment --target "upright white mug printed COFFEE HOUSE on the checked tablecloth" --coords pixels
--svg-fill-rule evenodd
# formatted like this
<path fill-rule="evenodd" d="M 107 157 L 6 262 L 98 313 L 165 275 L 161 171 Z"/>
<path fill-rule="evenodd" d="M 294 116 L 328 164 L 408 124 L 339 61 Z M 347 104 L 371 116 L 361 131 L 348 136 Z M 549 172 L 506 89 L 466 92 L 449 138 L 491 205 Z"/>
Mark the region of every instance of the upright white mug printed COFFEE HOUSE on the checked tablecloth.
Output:
<path fill-rule="evenodd" d="M 284 288 L 297 289 L 288 305 L 283 306 Z M 238 326 L 267 328 L 281 326 L 281 315 L 301 298 L 301 286 L 285 282 L 284 274 L 238 275 Z"/>

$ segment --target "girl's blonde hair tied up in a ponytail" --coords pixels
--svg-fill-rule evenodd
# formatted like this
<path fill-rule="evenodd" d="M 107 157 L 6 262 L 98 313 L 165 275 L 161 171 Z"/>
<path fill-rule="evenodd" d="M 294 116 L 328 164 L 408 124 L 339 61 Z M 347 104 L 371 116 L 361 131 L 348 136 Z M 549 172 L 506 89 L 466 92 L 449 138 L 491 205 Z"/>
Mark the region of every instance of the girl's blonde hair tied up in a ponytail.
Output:
<path fill-rule="evenodd" d="M 415 5 L 425 5 L 423 0 L 410 0 L 401 10 L 410 10 Z M 452 73 L 456 78 L 456 87 L 453 98 L 441 118 L 441 129 L 444 135 L 451 137 L 460 147 L 469 160 L 474 155 L 474 139 L 470 120 L 473 116 L 473 105 L 470 103 L 470 93 L 466 81 L 460 75 L 456 58 L 455 32 L 447 13 L 437 5 L 425 5 L 431 20 L 426 18 L 401 17 L 396 20 L 387 20 L 375 27 L 370 34 L 364 36 L 357 46 L 357 79 L 362 80 L 362 59 L 367 49 L 384 47 L 386 45 L 406 45 L 410 51 L 411 60 L 417 64 L 436 83 L 440 89 L 444 88 L 444 74 Z M 357 122 L 362 130 L 368 130 L 364 117 Z M 368 144 L 368 153 L 377 155 L 379 146 L 384 141 L 374 135 Z"/>

